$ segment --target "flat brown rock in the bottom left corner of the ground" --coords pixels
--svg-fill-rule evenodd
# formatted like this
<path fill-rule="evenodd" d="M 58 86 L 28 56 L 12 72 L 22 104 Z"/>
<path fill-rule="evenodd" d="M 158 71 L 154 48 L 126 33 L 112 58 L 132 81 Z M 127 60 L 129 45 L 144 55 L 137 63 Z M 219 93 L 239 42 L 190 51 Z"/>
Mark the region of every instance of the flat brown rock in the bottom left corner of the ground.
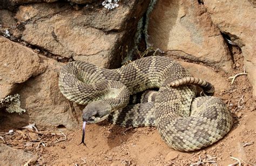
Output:
<path fill-rule="evenodd" d="M 0 144 L 0 165 L 24 165 L 35 158 L 35 155 Z"/>

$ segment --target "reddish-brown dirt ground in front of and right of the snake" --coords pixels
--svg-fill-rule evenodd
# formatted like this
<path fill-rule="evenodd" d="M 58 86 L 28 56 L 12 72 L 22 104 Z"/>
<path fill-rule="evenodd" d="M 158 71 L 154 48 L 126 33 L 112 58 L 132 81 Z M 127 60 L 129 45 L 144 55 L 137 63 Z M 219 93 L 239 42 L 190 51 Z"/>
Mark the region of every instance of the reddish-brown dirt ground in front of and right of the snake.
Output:
<path fill-rule="evenodd" d="M 226 79 L 244 71 L 242 54 L 237 51 L 233 57 L 233 72 L 219 72 Z M 230 88 L 215 92 L 215 96 L 223 99 L 230 108 L 234 118 L 233 128 L 224 139 L 213 146 L 191 153 L 170 149 L 161 140 L 156 128 L 126 129 L 109 122 L 86 126 L 87 147 L 79 145 L 82 130 L 62 130 L 66 140 L 60 132 L 16 130 L 14 134 L 1 133 L 0 143 L 37 154 L 38 158 L 30 162 L 33 164 L 255 164 L 256 100 L 252 96 L 252 86 L 246 75 L 238 76 Z M 1 132 L 8 130 L 8 126 L 4 126 Z"/>

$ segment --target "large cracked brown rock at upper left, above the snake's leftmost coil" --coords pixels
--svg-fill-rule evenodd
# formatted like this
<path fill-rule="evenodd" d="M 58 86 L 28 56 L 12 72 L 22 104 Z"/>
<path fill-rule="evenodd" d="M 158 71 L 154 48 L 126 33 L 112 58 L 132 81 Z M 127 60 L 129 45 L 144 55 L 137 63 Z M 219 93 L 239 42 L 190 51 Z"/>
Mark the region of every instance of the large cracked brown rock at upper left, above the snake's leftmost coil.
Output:
<path fill-rule="evenodd" d="M 142 2 L 144 4 L 140 5 Z M 131 43 L 135 33 L 131 27 L 136 26 L 148 3 L 133 0 L 111 12 L 103 7 L 91 10 L 86 6 L 76 11 L 62 3 L 54 3 L 50 10 L 49 5 L 42 4 L 19 6 L 17 20 L 30 22 L 24 23 L 23 31 L 12 30 L 11 33 L 54 55 L 114 68 L 120 65 L 120 47 Z"/>

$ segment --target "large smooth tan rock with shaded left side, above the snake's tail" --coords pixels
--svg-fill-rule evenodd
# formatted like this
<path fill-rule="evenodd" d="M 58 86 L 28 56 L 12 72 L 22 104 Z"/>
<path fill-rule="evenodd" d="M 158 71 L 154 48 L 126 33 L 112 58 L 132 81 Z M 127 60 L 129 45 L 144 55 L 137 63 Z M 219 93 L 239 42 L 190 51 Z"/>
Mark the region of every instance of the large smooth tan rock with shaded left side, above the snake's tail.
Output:
<path fill-rule="evenodd" d="M 159 0 L 149 18 L 149 44 L 177 57 L 228 72 L 230 52 L 217 26 L 198 1 Z"/>

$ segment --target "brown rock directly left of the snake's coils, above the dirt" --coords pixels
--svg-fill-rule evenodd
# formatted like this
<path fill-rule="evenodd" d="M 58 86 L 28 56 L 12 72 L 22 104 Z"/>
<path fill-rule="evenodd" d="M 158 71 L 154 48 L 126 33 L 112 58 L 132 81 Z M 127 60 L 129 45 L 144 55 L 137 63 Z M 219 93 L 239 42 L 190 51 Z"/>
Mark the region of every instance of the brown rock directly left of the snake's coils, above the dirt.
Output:
<path fill-rule="evenodd" d="M 37 77 L 24 82 L 18 91 L 21 95 L 21 107 L 26 112 L 21 115 L 0 112 L 1 125 L 17 128 L 36 123 L 40 129 L 77 129 L 82 121 L 82 108 L 69 102 L 58 87 L 58 73 L 64 64 L 43 56 L 40 60 L 48 68 Z"/>

